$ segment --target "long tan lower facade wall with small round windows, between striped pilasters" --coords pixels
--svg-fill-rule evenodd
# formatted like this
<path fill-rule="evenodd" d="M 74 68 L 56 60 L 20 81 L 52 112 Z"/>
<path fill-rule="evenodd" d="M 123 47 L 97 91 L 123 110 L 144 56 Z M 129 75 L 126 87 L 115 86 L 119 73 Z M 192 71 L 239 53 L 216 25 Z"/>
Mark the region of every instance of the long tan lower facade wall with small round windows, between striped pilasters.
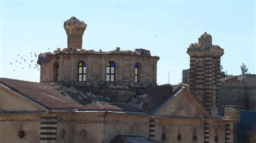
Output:
<path fill-rule="evenodd" d="M 46 115 L 43 115 L 46 116 Z M 109 142 L 118 134 L 149 137 L 150 119 L 154 119 L 154 137 L 152 139 L 165 142 L 204 142 L 205 123 L 209 124 L 208 140 L 225 142 L 225 124 L 232 122 L 190 118 L 171 118 L 160 116 L 136 115 L 127 113 L 104 112 L 55 112 L 48 116 L 57 117 L 57 142 Z M 6 115 L 0 113 L 0 140 L 3 142 L 39 142 L 39 114 Z M 24 139 L 19 139 L 17 132 L 23 129 Z M 231 128 L 231 137 L 232 135 Z M 165 138 L 163 139 L 163 134 Z M 178 134 L 181 135 L 180 141 Z M 196 135 L 196 141 L 193 141 Z M 54 141 L 52 141 L 54 142 Z M 233 142 L 231 139 L 229 142 Z"/>

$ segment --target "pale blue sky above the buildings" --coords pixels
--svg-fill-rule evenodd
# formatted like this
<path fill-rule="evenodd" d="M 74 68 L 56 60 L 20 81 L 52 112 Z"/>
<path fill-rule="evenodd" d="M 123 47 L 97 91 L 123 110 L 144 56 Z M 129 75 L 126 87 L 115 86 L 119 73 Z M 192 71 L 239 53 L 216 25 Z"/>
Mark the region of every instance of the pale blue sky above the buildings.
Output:
<path fill-rule="evenodd" d="M 28 68 L 32 53 L 66 48 L 63 22 L 72 16 L 87 24 L 83 48 L 110 51 L 145 48 L 160 56 L 159 84 L 181 82 L 189 68 L 186 53 L 205 31 L 224 48 L 221 65 L 240 74 L 244 62 L 256 71 L 254 1 L 1 1 L 0 77 L 39 82 Z M 17 55 L 20 55 L 19 57 Z M 26 62 L 19 61 L 21 56 Z M 16 62 L 16 60 L 18 62 Z M 12 62 L 12 65 L 10 65 Z M 33 62 L 32 62 L 33 63 Z M 24 69 L 22 69 L 24 68 Z M 15 69 L 15 71 L 14 71 Z"/>

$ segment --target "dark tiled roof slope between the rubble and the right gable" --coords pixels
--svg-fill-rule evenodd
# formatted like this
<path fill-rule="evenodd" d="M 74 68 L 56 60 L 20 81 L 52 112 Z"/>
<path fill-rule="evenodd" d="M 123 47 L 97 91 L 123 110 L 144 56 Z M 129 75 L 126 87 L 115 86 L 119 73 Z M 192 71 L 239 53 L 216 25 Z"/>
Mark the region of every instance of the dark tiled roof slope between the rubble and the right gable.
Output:
<path fill-rule="evenodd" d="M 147 97 L 139 99 L 143 102 L 143 109 L 150 112 L 163 104 L 169 97 L 173 96 L 181 85 L 160 85 L 147 89 Z"/>

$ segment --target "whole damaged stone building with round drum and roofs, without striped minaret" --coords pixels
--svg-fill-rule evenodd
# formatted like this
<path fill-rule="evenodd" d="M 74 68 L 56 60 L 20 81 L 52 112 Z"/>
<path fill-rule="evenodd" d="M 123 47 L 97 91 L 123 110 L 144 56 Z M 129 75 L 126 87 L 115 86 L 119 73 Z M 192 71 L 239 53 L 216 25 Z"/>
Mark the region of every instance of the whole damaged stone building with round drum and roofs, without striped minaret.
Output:
<path fill-rule="evenodd" d="M 159 57 L 85 50 L 86 24 L 72 17 L 64 28 L 68 48 L 39 55 L 40 83 L 0 78 L 0 142 L 233 142 L 232 119 L 183 84 L 156 84 Z"/>

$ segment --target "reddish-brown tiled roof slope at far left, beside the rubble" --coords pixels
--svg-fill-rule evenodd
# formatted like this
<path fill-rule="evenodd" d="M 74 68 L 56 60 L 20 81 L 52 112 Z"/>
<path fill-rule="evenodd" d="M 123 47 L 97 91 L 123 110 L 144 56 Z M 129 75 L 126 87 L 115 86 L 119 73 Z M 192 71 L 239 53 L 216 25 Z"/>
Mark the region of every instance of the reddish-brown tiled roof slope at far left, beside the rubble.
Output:
<path fill-rule="evenodd" d="M 78 109 L 83 106 L 70 96 L 60 94 L 58 89 L 48 83 L 0 78 L 0 84 L 9 87 L 33 102 L 41 104 L 47 109 Z"/>

